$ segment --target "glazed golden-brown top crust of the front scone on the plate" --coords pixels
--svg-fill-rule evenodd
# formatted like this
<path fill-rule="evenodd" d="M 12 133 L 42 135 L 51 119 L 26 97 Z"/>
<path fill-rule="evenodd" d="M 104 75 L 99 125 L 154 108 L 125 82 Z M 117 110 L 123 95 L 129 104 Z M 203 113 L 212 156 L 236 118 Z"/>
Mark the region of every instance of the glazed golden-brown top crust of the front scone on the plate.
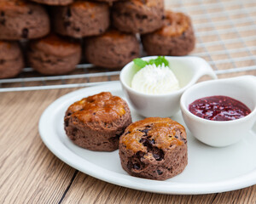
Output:
<path fill-rule="evenodd" d="M 185 128 L 178 122 L 171 118 L 148 117 L 142 121 L 131 123 L 125 129 L 119 143 L 125 144 L 128 150 L 135 153 L 138 151 L 146 152 L 147 147 L 140 142 L 144 135 L 143 127 L 149 128 L 147 134 L 150 135 L 150 139 L 154 140 L 159 149 L 168 148 L 172 144 L 183 145 L 184 141 L 175 137 L 177 131 L 182 134 L 183 139 L 186 139 Z"/>

